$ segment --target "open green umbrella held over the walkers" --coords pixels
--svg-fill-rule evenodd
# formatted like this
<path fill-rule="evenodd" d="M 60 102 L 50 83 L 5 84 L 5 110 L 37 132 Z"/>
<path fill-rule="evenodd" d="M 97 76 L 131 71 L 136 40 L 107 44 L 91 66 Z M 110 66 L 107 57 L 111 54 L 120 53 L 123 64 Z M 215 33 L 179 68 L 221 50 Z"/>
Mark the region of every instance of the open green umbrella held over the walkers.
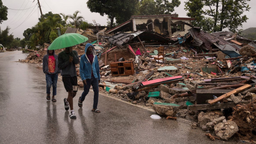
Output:
<path fill-rule="evenodd" d="M 65 47 L 70 47 L 70 46 L 84 43 L 87 40 L 88 40 L 87 37 L 77 33 L 64 34 L 54 39 L 52 44 L 48 47 L 48 50 L 63 49 Z"/>

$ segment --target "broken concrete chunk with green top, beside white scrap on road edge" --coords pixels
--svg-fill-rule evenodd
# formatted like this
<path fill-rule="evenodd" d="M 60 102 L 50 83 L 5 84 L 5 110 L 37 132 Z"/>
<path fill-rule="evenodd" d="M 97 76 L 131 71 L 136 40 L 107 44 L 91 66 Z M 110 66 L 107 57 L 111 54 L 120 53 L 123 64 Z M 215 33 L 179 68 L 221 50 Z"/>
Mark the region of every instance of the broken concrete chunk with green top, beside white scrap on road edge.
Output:
<path fill-rule="evenodd" d="M 155 102 L 153 109 L 158 115 L 162 116 L 175 116 L 179 110 L 180 105 L 174 103 L 161 103 Z"/>

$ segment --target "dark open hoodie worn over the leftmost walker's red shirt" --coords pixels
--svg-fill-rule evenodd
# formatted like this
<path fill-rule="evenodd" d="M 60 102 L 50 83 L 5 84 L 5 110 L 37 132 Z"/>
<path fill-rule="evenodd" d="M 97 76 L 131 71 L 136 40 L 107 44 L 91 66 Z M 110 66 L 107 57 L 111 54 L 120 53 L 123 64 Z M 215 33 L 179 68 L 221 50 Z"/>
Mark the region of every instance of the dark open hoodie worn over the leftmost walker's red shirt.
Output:
<path fill-rule="evenodd" d="M 47 54 L 44 55 L 44 58 L 43 58 L 43 72 L 45 74 L 57 74 L 57 73 L 60 73 L 60 70 L 58 69 L 58 55 L 55 54 L 55 51 L 53 51 L 53 56 L 54 56 L 54 59 L 55 59 L 55 70 L 54 70 L 54 73 L 49 73 L 49 50 L 47 50 Z"/>

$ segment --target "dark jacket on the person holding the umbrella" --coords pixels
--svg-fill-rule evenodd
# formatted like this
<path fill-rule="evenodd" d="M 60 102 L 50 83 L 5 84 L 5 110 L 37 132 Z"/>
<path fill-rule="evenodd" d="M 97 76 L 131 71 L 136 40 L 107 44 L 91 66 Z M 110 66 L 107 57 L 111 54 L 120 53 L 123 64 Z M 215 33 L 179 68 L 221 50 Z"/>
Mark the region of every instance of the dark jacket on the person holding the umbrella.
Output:
<path fill-rule="evenodd" d="M 69 62 L 69 55 L 73 57 L 73 61 Z M 79 63 L 79 58 L 76 51 L 72 51 L 71 53 L 66 53 L 62 51 L 58 55 L 58 67 L 61 70 L 62 76 L 76 76 L 76 65 Z"/>

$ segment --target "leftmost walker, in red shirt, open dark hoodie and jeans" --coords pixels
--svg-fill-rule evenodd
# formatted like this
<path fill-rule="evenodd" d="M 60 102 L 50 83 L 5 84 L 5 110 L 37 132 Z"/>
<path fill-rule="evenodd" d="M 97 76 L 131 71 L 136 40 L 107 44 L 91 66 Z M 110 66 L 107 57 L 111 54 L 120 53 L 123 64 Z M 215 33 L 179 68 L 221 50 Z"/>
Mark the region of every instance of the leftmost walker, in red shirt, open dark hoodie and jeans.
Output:
<path fill-rule="evenodd" d="M 54 96 L 57 94 L 57 81 L 60 70 L 58 69 L 58 55 L 53 50 L 47 50 L 43 58 L 43 71 L 46 77 L 46 99 L 50 100 L 50 90 L 52 86 L 52 101 L 56 102 Z"/>

